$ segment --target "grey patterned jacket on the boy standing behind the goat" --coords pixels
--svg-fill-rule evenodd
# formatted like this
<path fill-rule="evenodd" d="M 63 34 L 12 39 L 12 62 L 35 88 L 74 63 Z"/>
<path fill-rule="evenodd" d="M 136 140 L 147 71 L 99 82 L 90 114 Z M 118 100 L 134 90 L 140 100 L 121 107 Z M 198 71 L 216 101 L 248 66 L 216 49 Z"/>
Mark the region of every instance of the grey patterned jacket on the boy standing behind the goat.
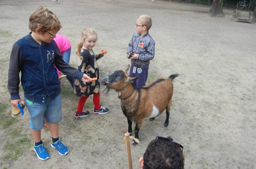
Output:
<path fill-rule="evenodd" d="M 127 54 L 130 51 L 138 54 L 136 60 L 131 60 L 132 64 L 137 68 L 146 68 L 150 65 L 150 60 L 154 59 L 155 41 L 148 33 L 142 38 L 140 38 L 140 34 L 135 33 L 129 43 Z"/>

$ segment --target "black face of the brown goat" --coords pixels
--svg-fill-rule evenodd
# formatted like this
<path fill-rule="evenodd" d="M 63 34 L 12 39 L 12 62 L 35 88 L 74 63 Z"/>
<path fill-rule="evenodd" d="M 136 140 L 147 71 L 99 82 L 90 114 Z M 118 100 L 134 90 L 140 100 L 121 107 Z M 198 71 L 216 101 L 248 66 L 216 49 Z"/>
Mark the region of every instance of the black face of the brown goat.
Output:
<path fill-rule="evenodd" d="M 112 75 L 103 77 L 101 82 L 102 82 L 102 85 L 105 85 L 111 88 L 109 85 L 112 85 L 114 82 L 118 82 L 122 80 L 123 77 L 124 77 L 124 72 L 122 70 L 117 70 Z"/>

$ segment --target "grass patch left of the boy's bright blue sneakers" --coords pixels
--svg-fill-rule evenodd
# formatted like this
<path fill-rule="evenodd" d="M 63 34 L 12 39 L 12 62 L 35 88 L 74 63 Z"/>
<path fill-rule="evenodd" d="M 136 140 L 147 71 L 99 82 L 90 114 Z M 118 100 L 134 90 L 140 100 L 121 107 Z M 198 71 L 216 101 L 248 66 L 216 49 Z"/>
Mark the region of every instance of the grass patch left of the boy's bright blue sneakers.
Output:
<path fill-rule="evenodd" d="M 4 161 L 17 160 L 18 157 L 22 156 L 30 146 L 31 146 L 30 140 L 27 136 L 24 136 L 23 138 L 17 140 L 14 143 L 11 143 L 10 141 L 8 141 L 6 142 L 3 148 L 3 150 L 5 152 L 8 152 L 8 154 L 5 155 L 2 158 L 2 160 Z"/>

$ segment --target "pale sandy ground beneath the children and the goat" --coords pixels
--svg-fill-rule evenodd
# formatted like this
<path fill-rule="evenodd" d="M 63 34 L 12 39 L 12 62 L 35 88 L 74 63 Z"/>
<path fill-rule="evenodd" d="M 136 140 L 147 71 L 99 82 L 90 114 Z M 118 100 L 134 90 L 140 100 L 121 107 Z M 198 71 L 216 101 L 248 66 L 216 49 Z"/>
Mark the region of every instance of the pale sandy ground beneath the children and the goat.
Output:
<path fill-rule="evenodd" d="M 136 16 L 152 17 L 150 35 L 156 42 L 156 54 L 148 80 L 167 78 L 174 73 L 180 76 L 174 80 L 169 126 L 163 127 L 165 113 L 153 122 L 145 119 L 139 133 L 140 143 L 131 146 L 134 168 L 139 168 L 139 158 L 157 135 L 171 136 L 184 146 L 185 168 L 255 167 L 255 25 L 232 22 L 233 8 L 225 8 L 223 18 L 208 17 L 210 7 L 206 4 L 59 1 L 0 2 L 0 103 L 6 106 L 0 114 L 6 119 L 0 126 L 1 168 L 128 168 L 121 132 L 127 130 L 128 124 L 115 91 L 101 95 L 101 104 L 110 108 L 109 114 L 93 115 L 90 97 L 84 109 L 91 115 L 76 120 L 73 115 L 79 97 L 71 92 L 66 79 L 61 81 L 63 120 L 59 123 L 59 136 L 70 150 L 66 156 L 51 148 L 50 131 L 42 129 L 42 140 L 51 158 L 39 160 L 33 151 L 28 109 L 25 108 L 24 116 L 11 119 L 7 90 L 10 52 L 15 41 L 30 32 L 28 19 L 39 5 L 59 17 L 63 25 L 59 34 L 71 42 L 70 64 L 74 67 L 78 63 L 75 48 L 81 31 L 86 27 L 97 31 L 94 51 L 108 51 L 98 61 L 101 77 L 130 64 L 125 57 L 135 33 Z M 4 124 L 9 121 L 6 127 Z M 16 150 L 21 152 L 17 158 L 7 157 L 15 155 Z"/>

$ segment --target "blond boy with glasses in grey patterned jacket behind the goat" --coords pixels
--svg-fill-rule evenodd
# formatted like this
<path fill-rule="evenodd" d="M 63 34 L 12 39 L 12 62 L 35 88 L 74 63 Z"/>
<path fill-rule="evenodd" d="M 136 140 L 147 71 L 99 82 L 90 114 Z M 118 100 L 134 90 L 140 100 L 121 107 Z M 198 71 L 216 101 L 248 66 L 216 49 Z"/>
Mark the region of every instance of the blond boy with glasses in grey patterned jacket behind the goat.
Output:
<path fill-rule="evenodd" d="M 148 66 L 155 56 L 155 41 L 148 31 L 152 26 L 152 19 L 148 15 L 138 15 L 136 32 L 129 43 L 127 58 L 131 58 L 130 77 L 138 77 L 133 82 L 134 87 L 146 85 Z M 132 55 L 130 56 L 130 54 Z"/>

